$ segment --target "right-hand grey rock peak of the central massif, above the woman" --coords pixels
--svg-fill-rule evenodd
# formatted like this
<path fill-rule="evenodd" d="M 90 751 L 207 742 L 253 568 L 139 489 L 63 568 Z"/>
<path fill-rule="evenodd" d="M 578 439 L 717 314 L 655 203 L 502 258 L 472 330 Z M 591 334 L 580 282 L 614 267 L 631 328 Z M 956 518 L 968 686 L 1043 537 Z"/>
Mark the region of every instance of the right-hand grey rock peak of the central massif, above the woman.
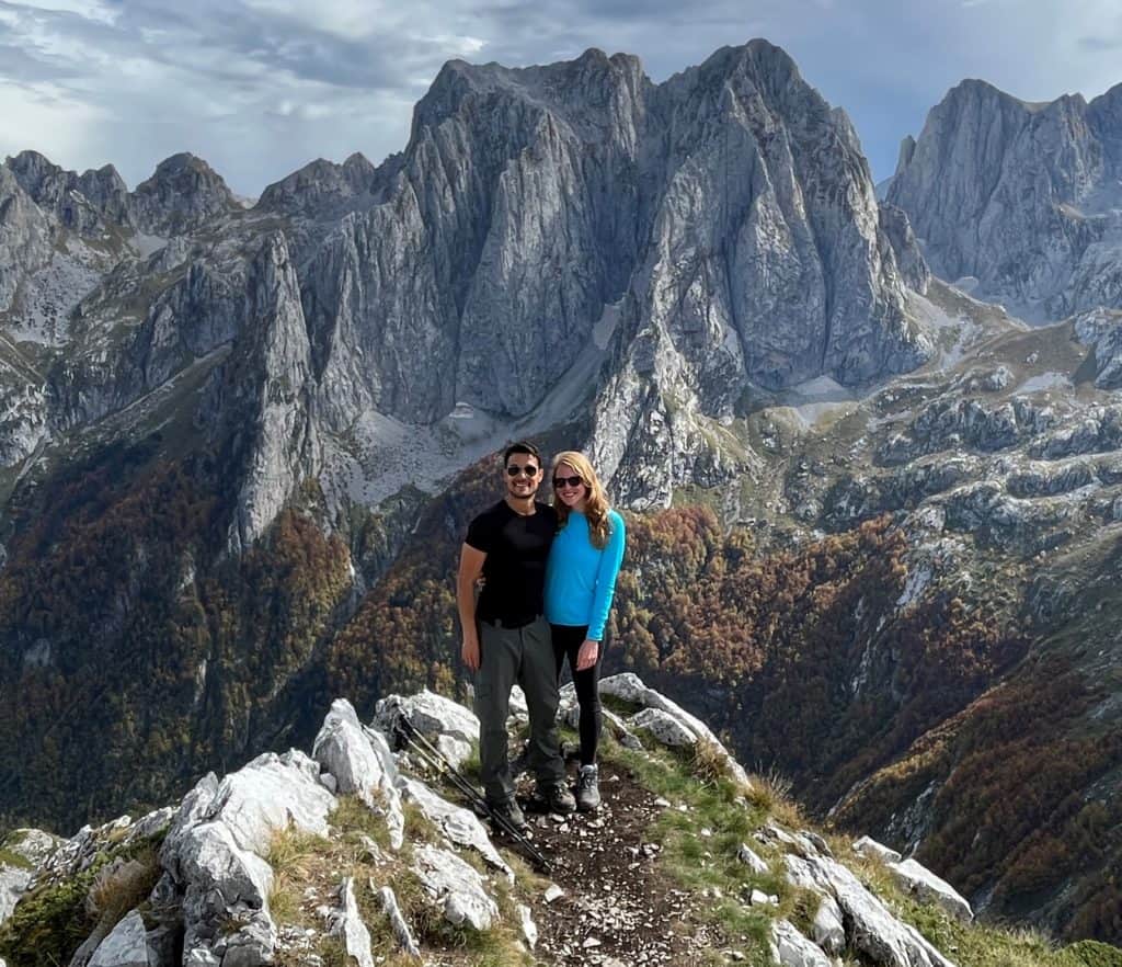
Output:
<path fill-rule="evenodd" d="M 715 444 L 745 394 L 861 384 L 930 350 L 900 270 L 922 259 L 902 227 L 882 227 L 845 113 L 782 51 L 718 52 L 656 91 L 647 127 L 661 149 L 645 165 L 665 174 L 592 443 L 637 505 L 751 464 Z"/>

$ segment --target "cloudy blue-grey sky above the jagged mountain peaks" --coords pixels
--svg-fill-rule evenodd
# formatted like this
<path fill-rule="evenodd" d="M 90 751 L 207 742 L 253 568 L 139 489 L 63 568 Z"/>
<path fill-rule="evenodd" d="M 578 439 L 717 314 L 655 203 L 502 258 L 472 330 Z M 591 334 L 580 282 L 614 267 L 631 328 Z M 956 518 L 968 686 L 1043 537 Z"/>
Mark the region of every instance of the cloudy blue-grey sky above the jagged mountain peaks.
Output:
<path fill-rule="evenodd" d="M 454 57 L 599 47 L 659 82 L 753 37 L 845 108 L 876 180 L 964 77 L 1029 101 L 1122 82 L 1119 0 L 0 0 L 0 156 L 112 163 L 135 188 L 188 150 L 254 198 L 316 157 L 404 148 Z"/>

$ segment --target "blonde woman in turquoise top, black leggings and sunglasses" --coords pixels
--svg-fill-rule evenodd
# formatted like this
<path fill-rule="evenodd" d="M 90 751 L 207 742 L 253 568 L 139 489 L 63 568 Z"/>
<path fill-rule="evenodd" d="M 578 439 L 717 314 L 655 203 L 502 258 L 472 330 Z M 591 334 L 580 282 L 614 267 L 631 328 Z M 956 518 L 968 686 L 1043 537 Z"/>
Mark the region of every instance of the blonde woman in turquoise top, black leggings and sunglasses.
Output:
<path fill-rule="evenodd" d="M 583 454 L 553 460 L 558 535 L 545 569 L 545 617 L 553 632 L 558 676 L 569 658 L 580 703 L 577 809 L 600 804 L 596 750 L 600 740 L 600 659 L 616 575 L 624 557 L 624 519 L 608 507 L 604 486 Z"/>

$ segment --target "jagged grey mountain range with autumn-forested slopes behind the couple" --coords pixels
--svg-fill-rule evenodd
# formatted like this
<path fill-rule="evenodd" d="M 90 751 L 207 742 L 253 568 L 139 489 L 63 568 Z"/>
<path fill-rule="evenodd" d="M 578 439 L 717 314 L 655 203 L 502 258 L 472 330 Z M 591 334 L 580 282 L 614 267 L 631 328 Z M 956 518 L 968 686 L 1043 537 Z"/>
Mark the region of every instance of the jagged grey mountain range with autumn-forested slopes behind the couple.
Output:
<path fill-rule="evenodd" d="M 763 40 L 451 62 L 399 155 L 249 208 L 9 158 L 2 822 L 462 688 L 454 555 L 527 436 L 632 513 L 609 664 L 983 914 L 1118 941 L 1118 90 L 964 82 L 884 201 Z"/>

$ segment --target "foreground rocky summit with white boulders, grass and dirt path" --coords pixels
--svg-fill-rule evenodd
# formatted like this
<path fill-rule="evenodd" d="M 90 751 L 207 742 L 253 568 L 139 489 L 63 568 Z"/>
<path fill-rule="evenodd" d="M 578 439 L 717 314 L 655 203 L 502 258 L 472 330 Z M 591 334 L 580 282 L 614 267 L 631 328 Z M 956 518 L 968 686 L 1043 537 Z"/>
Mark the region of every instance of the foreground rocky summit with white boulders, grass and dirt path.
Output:
<path fill-rule="evenodd" d="M 969 904 L 914 859 L 867 837 L 828 842 L 672 700 L 634 675 L 604 687 L 620 703 L 606 801 L 591 814 L 532 814 L 548 866 L 532 870 L 516 842 L 449 799 L 426 747 L 399 726 L 454 747 L 469 710 L 431 693 L 389 696 L 364 724 L 338 700 L 311 756 L 259 756 L 204 776 L 177 805 L 71 839 L 11 833 L 0 955 L 11 967 L 954 967 L 984 943 L 1024 964 L 1105 963 L 1084 959 L 1094 945 L 981 940 Z M 573 699 L 570 687 L 562 718 Z M 525 721 L 516 702 L 511 724 Z M 699 774 L 691 759 L 706 764 Z"/>

